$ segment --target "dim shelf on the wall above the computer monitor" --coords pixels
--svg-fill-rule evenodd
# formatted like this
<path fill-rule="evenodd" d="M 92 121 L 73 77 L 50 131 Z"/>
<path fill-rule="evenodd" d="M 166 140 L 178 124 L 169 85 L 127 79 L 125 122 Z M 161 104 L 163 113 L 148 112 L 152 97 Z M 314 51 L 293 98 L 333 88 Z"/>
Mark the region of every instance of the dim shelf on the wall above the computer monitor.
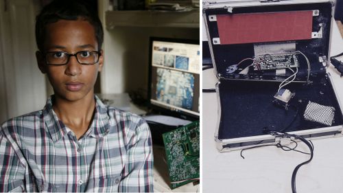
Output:
<path fill-rule="evenodd" d="M 106 28 L 115 27 L 188 27 L 199 28 L 199 10 L 161 12 L 151 10 L 107 11 Z"/>

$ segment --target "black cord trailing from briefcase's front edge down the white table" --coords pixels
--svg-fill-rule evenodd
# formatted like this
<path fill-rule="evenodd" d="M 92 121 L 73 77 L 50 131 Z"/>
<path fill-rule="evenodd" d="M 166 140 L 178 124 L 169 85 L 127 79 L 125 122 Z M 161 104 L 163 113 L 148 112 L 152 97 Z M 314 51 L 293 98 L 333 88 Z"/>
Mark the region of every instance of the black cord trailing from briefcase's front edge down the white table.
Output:
<path fill-rule="evenodd" d="M 260 148 L 260 147 L 263 147 L 263 146 L 276 146 L 277 148 L 281 148 L 282 150 L 285 150 L 285 151 L 294 150 L 296 152 L 300 152 L 300 153 L 303 153 L 303 154 L 310 155 L 310 158 L 307 161 L 304 161 L 304 162 L 298 164 L 298 166 L 296 166 L 296 168 L 294 168 L 294 170 L 293 170 L 293 174 L 292 174 L 292 192 L 296 193 L 296 174 L 297 174 L 297 172 L 298 172 L 298 170 L 299 170 L 299 168 L 301 166 L 304 166 L 305 164 L 309 163 L 313 159 L 313 157 L 314 157 L 314 144 L 312 144 L 311 141 L 307 141 L 307 139 L 305 139 L 304 137 L 301 137 L 301 136 L 295 135 L 295 134 L 280 133 L 280 132 L 276 132 L 276 131 L 271 131 L 270 135 L 273 135 L 274 137 L 280 137 L 280 138 L 289 138 L 294 143 L 296 143 L 296 141 L 294 141 L 292 138 L 298 139 L 298 140 L 302 141 L 304 144 L 306 144 L 308 146 L 310 152 L 308 153 L 308 152 L 303 152 L 303 151 L 300 151 L 300 150 L 296 150 L 296 147 L 298 146 L 297 143 L 296 143 L 296 146 L 294 146 L 293 148 L 289 148 L 288 146 L 282 146 L 281 142 L 279 142 L 278 144 L 265 144 L 265 145 L 261 145 L 261 146 L 254 146 L 254 147 L 250 147 L 250 148 L 244 148 L 244 149 L 241 150 L 241 157 L 243 157 L 242 152 L 244 150 L 249 150 L 249 149 L 252 149 L 252 148 Z M 243 159 L 245 159 L 245 158 L 243 157 Z"/>

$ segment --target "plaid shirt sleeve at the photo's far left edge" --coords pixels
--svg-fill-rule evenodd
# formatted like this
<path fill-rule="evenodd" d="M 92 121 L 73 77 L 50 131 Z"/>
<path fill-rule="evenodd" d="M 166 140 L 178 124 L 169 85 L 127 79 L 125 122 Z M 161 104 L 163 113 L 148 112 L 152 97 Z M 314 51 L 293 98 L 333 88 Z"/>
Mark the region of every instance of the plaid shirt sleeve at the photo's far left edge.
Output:
<path fill-rule="evenodd" d="M 25 168 L 0 127 L 0 192 L 25 192 Z"/>

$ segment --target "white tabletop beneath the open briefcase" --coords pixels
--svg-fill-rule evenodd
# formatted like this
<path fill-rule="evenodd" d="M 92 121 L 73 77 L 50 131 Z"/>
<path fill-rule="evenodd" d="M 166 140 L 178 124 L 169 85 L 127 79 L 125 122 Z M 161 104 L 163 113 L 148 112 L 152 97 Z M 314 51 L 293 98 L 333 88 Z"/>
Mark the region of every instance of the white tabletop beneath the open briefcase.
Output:
<path fill-rule="evenodd" d="M 343 52 L 343 40 L 333 23 L 331 56 Z M 329 67 L 338 97 L 343 102 L 343 78 Z M 213 69 L 203 71 L 203 88 L 214 88 Z M 217 95 L 202 94 L 202 192 L 289 193 L 294 168 L 309 159 L 298 152 L 284 152 L 274 146 L 244 151 L 218 152 L 214 133 L 217 126 Z M 313 140 L 314 159 L 298 170 L 299 193 L 343 192 L 343 137 Z M 299 143 L 299 150 L 308 148 Z"/>

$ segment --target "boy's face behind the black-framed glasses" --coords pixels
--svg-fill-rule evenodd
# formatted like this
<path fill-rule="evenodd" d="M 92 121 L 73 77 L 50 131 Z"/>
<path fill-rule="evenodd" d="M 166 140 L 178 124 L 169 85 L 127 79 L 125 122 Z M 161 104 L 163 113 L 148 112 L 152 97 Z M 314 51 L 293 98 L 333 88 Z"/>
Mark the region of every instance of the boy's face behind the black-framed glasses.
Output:
<path fill-rule="evenodd" d="M 46 27 L 44 52 L 67 52 L 75 54 L 81 51 L 98 51 L 95 31 L 91 23 L 60 20 Z M 102 52 L 102 51 L 101 51 Z M 75 56 L 69 58 L 67 65 L 46 65 L 45 55 L 36 53 L 38 67 L 47 73 L 56 97 L 76 101 L 94 93 L 97 72 L 102 70 L 103 56 L 95 65 L 81 65 Z"/>

